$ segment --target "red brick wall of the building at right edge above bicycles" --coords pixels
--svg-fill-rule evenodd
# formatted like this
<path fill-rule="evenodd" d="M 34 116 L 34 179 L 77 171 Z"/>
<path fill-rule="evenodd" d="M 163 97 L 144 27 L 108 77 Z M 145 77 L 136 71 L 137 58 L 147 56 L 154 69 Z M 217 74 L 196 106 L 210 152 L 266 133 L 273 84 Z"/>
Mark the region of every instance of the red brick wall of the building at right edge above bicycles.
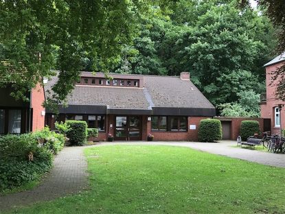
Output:
<path fill-rule="evenodd" d="M 271 85 L 272 72 L 274 72 L 278 67 L 281 67 L 284 62 L 280 62 L 277 64 L 272 64 L 269 67 L 266 67 L 266 102 L 262 102 L 260 104 L 260 112 L 262 118 L 271 119 L 271 133 L 279 134 L 280 128 L 276 128 L 274 121 L 274 108 L 278 106 L 278 104 L 285 104 L 285 102 L 281 102 L 275 99 L 275 90 L 276 87 L 274 84 Z M 285 128 L 285 107 L 283 107 L 281 111 L 281 126 L 282 129 Z"/>

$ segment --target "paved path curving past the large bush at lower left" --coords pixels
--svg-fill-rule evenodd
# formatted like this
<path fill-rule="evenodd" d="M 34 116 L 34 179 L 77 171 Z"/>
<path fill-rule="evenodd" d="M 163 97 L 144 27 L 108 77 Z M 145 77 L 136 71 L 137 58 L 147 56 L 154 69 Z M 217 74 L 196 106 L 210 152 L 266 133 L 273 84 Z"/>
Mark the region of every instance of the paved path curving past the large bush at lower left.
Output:
<path fill-rule="evenodd" d="M 65 147 L 54 160 L 54 168 L 35 189 L 0 196 L 0 213 L 14 206 L 52 200 L 88 188 L 87 161 L 83 149 Z"/>

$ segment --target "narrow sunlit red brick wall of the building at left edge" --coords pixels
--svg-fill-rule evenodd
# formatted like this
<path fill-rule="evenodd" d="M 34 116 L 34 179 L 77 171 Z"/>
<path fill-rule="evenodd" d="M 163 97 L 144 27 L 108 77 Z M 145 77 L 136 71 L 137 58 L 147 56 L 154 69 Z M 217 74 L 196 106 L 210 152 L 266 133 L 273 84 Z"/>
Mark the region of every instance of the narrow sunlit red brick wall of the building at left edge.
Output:
<path fill-rule="evenodd" d="M 32 89 L 32 132 L 41 130 L 45 127 L 45 116 L 42 115 L 42 111 L 45 112 L 45 108 L 42 106 L 44 101 L 45 93 L 43 91 L 43 86 L 38 83 L 36 87 Z"/>

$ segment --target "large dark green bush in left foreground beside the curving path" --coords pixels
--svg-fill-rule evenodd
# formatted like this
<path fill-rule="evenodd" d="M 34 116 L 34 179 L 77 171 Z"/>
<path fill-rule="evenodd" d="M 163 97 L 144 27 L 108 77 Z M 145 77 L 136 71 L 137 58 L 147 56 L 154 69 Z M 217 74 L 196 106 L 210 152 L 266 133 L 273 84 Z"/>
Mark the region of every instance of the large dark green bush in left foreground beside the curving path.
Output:
<path fill-rule="evenodd" d="M 28 154 L 32 152 L 33 160 Z M 39 147 L 33 134 L 8 134 L 0 138 L 0 191 L 40 178 L 52 166 L 52 152 Z"/>

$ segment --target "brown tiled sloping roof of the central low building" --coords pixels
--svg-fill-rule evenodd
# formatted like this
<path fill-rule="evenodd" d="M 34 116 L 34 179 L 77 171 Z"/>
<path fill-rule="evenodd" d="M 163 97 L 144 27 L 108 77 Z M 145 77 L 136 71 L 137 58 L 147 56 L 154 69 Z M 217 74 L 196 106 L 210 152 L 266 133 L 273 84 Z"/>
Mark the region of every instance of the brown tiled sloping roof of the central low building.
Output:
<path fill-rule="evenodd" d="M 105 106 L 106 113 L 133 112 L 144 115 L 199 115 L 214 116 L 215 108 L 190 80 L 177 76 L 122 75 L 108 73 L 117 79 L 139 80 L 139 87 L 92 86 L 76 84 L 67 96 L 69 109 L 72 106 L 95 108 Z M 81 77 L 102 78 L 104 73 L 82 72 Z M 45 90 L 50 90 L 57 77 L 47 82 Z M 63 110 L 63 112 L 69 112 Z M 78 109 L 78 108 L 76 108 Z"/>

